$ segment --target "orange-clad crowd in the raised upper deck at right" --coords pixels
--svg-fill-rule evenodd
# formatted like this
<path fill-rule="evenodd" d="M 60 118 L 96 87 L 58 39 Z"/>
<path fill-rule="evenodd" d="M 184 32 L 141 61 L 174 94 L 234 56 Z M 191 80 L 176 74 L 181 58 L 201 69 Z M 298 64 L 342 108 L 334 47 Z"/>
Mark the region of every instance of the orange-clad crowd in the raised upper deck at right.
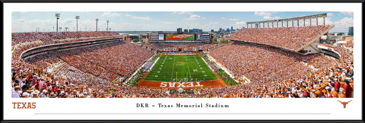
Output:
<path fill-rule="evenodd" d="M 331 26 L 243 28 L 226 39 L 250 41 L 296 50 L 315 39 Z"/>

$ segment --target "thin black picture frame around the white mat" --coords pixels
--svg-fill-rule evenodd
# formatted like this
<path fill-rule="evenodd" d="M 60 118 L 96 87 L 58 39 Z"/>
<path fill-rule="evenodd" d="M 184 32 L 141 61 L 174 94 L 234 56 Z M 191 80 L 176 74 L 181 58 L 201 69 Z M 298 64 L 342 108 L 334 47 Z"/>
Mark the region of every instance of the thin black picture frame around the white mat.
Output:
<path fill-rule="evenodd" d="M 220 1 L 220 0 L 180 0 L 180 1 L 171 1 L 171 0 L 0 0 L 1 1 L 1 10 L 4 10 L 4 3 L 361 3 L 363 4 L 365 0 L 230 0 L 230 1 Z M 363 5 L 361 5 L 363 7 Z M 362 11 L 361 11 L 362 12 Z M 4 25 L 4 11 L 0 12 L 2 16 L 1 27 Z M 362 13 L 362 18 L 364 13 Z M 364 21 L 362 21 L 364 24 Z M 4 30 L 4 28 L 3 28 Z M 1 32 L 4 34 L 3 30 Z M 363 32 L 363 29 L 361 27 Z M 363 34 L 365 34 L 363 32 Z M 364 38 L 364 35 L 362 36 Z M 4 37 L 0 36 L 0 47 L 4 47 Z M 4 58 L 3 53 L 7 49 L 0 50 L 0 55 Z M 364 43 L 362 44 L 362 52 L 364 52 Z M 0 60 L 1 66 L 4 65 L 4 59 Z M 364 57 L 362 57 L 362 63 L 364 62 Z M 3 68 L 3 67 L 2 67 Z M 364 66 L 362 66 L 364 70 Z M 4 70 L 4 68 L 3 68 Z M 364 75 L 364 73 L 362 73 Z M 1 74 L 1 77 L 4 78 L 4 73 Z M 364 78 L 363 78 L 364 79 Z M 0 84 L 3 85 L 3 81 L 0 80 Z M 4 88 L 4 87 L 3 87 Z M 362 84 L 362 92 L 364 92 L 364 83 Z M 2 93 L 2 92 L 1 92 Z M 1 104 L 4 107 L 4 98 L 3 94 L 0 95 L 2 98 Z M 362 97 L 361 97 L 362 98 Z M 363 100 L 364 98 L 362 98 Z M 361 102 L 362 106 L 364 105 Z M 362 108 L 362 107 L 361 107 Z M 362 108 L 363 109 L 363 108 Z M 3 110 L 3 114 L 4 114 Z M 170 122 L 202 122 L 202 123 L 216 123 L 216 122 L 226 122 L 226 123 L 237 123 L 237 122 L 248 122 L 248 123 L 365 123 L 364 122 L 364 114 L 362 113 L 361 120 L 4 120 L 4 115 L 1 115 L 0 119 L 1 123 L 46 123 L 46 122 L 54 122 L 54 123 L 104 123 L 104 122 L 112 122 L 112 123 L 125 123 L 125 122 L 136 122 L 136 123 L 170 123 Z"/>

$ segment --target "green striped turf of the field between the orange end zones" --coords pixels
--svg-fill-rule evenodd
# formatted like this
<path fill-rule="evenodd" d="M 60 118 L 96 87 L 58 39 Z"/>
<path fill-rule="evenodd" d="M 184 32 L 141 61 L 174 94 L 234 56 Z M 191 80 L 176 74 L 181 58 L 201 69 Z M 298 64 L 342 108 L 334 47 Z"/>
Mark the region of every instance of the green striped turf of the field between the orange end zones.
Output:
<path fill-rule="evenodd" d="M 184 64 L 177 65 L 177 62 Z M 193 81 L 195 79 L 198 81 L 204 80 L 203 78 L 205 80 L 218 80 L 218 77 L 210 70 L 199 55 L 161 55 L 144 80 L 172 82 L 173 79 L 176 81 L 176 78 L 179 80 L 188 78 L 191 81 L 190 76 Z"/>

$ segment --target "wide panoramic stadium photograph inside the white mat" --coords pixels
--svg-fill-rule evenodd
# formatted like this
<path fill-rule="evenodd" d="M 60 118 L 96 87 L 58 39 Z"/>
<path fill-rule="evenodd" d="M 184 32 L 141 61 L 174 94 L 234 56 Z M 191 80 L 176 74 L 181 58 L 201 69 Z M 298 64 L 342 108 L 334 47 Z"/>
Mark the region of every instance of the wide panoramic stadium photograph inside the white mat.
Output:
<path fill-rule="evenodd" d="M 353 98 L 353 16 L 12 12 L 11 98 Z"/>

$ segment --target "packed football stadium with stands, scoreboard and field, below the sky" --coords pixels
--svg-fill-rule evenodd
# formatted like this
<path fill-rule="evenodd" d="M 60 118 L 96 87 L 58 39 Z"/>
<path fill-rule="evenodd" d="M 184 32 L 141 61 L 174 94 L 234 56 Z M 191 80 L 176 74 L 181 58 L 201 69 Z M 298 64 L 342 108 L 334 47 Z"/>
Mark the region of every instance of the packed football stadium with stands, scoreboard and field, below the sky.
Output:
<path fill-rule="evenodd" d="M 12 98 L 353 98 L 353 37 L 328 43 L 336 25 L 325 17 L 246 22 L 229 43 L 208 32 L 138 43 L 108 28 L 13 32 Z"/>

